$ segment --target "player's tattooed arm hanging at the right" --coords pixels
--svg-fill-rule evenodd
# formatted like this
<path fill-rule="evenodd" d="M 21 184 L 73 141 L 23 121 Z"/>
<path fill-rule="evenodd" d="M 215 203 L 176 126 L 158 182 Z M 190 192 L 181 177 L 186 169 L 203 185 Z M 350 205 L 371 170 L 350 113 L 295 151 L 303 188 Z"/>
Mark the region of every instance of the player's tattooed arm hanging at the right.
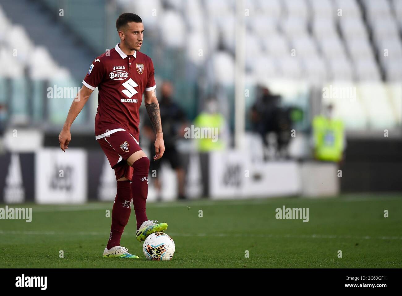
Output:
<path fill-rule="evenodd" d="M 165 144 L 163 141 L 162 123 L 160 121 L 159 103 L 156 98 L 155 90 L 144 91 L 145 108 L 147 109 L 148 116 L 150 117 L 152 127 L 156 134 L 155 141 L 155 156 L 154 160 L 160 159 L 165 152 Z"/>

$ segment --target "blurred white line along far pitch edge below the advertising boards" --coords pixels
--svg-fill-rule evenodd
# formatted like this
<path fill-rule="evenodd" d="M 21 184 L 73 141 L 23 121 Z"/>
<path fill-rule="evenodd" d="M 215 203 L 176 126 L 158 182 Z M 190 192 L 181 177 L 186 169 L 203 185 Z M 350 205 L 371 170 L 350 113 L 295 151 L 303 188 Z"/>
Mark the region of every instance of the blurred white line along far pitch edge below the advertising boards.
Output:
<path fill-rule="evenodd" d="M 359 201 L 371 201 L 371 200 L 376 200 L 377 198 L 374 197 L 351 197 L 351 198 L 341 198 L 341 199 L 330 199 L 330 201 L 336 201 L 336 202 L 359 202 Z M 381 198 L 380 200 L 394 200 L 398 199 L 395 197 L 384 197 Z M 148 203 L 147 207 L 149 208 L 169 208 L 169 207 L 183 207 L 185 209 L 192 208 L 192 207 L 203 207 L 203 206 L 213 206 L 216 204 L 221 204 L 221 205 L 261 205 L 261 204 L 270 204 L 270 203 L 278 203 L 280 199 L 275 198 L 273 199 L 241 199 L 241 200 L 210 200 L 210 201 L 203 201 L 201 203 L 197 202 L 197 199 L 190 200 L 188 204 L 185 202 L 183 203 Z M 307 198 L 300 198 L 300 199 L 283 199 L 283 203 L 294 203 L 294 202 L 320 202 L 320 201 L 326 201 L 328 199 L 307 199 Z M 11 206 L 9 206 L 11 207 Z M 13 207 L 18 207 L 18 205 L 13 205 Z M 19 205 L 19 207 L 24 207 L 24 205 Z M 26 207 L 26 206 L 25 206 Z M 44 212 L 68 212 L 68 211 L 93 211 L 93 210 L 107 210 L 111 209 L 113 207 L 113 201 L 110 201 L 109 204 L 107 203 L 89 203 L 89 204 L 82 204 L 82 205 L 59 205 L 59 206 L 49 206 L 49 205 L 43 205 L 41 207 L 40 205 L 33 205 L 32 206 L 32 211 L 35 213 L 44 213 Z"/>

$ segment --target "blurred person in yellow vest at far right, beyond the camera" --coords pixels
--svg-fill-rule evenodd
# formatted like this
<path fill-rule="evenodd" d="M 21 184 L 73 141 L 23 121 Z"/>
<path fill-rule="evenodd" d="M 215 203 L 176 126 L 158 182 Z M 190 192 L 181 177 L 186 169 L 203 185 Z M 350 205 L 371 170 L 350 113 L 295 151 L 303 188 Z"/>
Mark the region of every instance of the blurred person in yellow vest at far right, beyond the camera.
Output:
<path fill-rule="evenodd" d="M 339 162 L 346 147 L 343 122 L 333 118 L 333 106 L 313 118 L 314 156 L 321 161 Z"/>

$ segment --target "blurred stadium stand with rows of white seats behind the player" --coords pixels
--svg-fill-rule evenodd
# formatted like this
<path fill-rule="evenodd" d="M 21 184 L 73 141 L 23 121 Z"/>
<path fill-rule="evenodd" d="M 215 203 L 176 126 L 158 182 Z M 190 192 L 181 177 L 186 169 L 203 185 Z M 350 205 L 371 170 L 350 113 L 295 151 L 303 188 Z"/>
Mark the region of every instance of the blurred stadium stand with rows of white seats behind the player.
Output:
<path fill-rule="evenodd" d="M 170 77 L 172 71 L 183 73 L 183 80 L 175 82 L 175 87 L 191 97 L 183 106 L 190 118 L 199 111 L 198 99 L 214 87 L 234 89 L 234 0 L 114 0 L 106 9 L 92 5 L 93 0 L 85 5 L 77 0 L 68 4 L 43 0 L 40 4 L 15 0 L 0 7 L 0 24 L 6 28 L 0 33 L 0 61 L 4 65 L 0 83 L 4 85 L 6 78 L 14 81 L 12 95 L 18 102 L 8 110 L 11 117 L 25 114 L 40 118 L 24 107 L 29 105 L 24 95 L 27 90 L 21 87 L 26 85 L 24 81 L 31 79 L 34 85 L 37 81 L 57 80 L 66 85 L 79 81 L 89 61 L 117 40 L 114 20 L 123 11 L 135 11 L 142 17 L 148 42 L 144 51 L 154 59 L 158 79 Z M 59 7 L 65 9 L 63 18 L 55 16 Z M 18 17 L 27 16 L 28 9 L 52 17 L 47 22 L 43 18 L 39 21 L 35 13 L 25 20 Z M 261 82 L 278 85 L 277 81 L 283 81 L 277 89 L 285 94 L 286 81 L 291 81 L 308 85 L 307 91 L 304 86 L 299 89 L 308 97 L 309 88 L 349 85 L 356 93 L 353 103 L 332 99 L 348 129 L 401 127 L 402 1 L 246 0 L 244 10 L 246 77 L 251 88 Z M 41 35 L 39 25 L 30 28 L 30 21 L 51 27 L 51 40 Z M 64 28 L 70 32 L 67 39 Z M 77 40 L 81 42 L 78 46 Z M 18 56 L 10 58 L 10 50 L 15 48 Z M 169 62 L 162 65 L 162 60 Z M 5 96 L 2 89 L 0 100 L 4 102 Z M 284 95 L 285 102 L 293 100 Z M 30 108 L 34 110 L 53 103 L 40 98 L 33 101 L 36 103 Z M 57 108 L 65 108 L 53 105 L 47 113 L 57 114 Z M 58 118 L 49 116 L 46 120 L 51 126 L 59 124 Z M 86 122 L 82 120 L 82 124 Z"/>

